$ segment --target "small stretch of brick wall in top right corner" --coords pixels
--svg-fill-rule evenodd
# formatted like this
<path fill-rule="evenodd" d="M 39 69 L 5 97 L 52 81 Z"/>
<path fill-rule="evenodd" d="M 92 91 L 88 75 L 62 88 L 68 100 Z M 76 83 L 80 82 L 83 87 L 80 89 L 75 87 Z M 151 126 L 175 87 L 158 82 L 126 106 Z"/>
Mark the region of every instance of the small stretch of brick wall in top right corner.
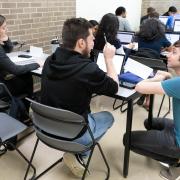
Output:
<path fill-rule="evenodd" d="M 175 6 L 180 11 L 180 0 L 142 0 L 142 15 L 146 14 L 146 9 L 150 6 L 161 15 L 167 12 L 170 6 Z"/>

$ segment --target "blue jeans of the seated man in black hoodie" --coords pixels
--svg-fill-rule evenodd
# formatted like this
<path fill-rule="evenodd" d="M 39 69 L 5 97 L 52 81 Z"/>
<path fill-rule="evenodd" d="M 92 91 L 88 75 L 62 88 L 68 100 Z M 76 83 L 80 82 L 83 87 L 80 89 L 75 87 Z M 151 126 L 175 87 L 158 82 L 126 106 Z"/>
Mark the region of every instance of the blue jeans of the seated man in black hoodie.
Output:
<path fill-rule="evenodd" d="M 102 111 L 94 114 L 88 114 L 89 127 L 93 133 L 95 140 L 100 138 L 106 133 L 106 131 L 113 125 L 114 118 L 110 112 Z M 86 131 L 80 138 L 74 140 L 80 144 L 90 144 L 92 138 L 88 131 Z M 81 156 L 88 156 L 89 151 L 82 153 Z"/>

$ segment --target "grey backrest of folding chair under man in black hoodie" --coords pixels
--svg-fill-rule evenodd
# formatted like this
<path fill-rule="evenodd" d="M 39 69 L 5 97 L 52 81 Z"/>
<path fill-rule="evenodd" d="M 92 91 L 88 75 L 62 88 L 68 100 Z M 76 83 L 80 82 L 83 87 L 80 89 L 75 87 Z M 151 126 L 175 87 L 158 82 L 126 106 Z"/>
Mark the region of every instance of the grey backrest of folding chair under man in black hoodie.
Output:
<path fill-rule="evenodd" d="M 71 111 L 30 101 L 35 127 L 48 135 L 59 137 L 59 139 L 71 140 L 76 138 L 86 127 L 86 121 L 83 116 Z"/>

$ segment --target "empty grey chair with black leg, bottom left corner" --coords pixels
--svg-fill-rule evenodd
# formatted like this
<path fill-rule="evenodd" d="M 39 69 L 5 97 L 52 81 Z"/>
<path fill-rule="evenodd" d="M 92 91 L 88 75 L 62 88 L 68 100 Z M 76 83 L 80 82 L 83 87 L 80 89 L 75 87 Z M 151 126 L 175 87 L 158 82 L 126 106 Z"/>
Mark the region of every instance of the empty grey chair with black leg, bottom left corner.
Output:
<path fill-rule="evenodd" d="M 9 141 L 11 138 L 17 136 L 26 129 L 27 126 L 20 121 L 12 118 L 6 113 L 0 112 L 0 156 L 7 152 L 7 147 L 10 145 L 13 146 L 18 154 L 29 164 L 29 160 L 25 157 L 25 155 L 16 146 L 14 146 L 11 141 Z M 36 169 L 32 164 L 31 168 L 33 169 L 33 178 L 35 176 Z"/>

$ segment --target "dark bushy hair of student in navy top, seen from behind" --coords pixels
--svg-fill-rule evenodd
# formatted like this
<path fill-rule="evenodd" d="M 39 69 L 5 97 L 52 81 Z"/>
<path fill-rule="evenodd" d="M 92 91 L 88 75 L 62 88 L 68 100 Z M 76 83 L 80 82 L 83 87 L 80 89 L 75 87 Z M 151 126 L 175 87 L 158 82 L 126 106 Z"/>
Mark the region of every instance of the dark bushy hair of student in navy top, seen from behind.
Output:
<path fill-rule="evenodd" d="M 165 36 L 165 27 L 158 19 L 147 19 L 140 26 L 137 36 L 145 41 L 160 39 Z"/>

